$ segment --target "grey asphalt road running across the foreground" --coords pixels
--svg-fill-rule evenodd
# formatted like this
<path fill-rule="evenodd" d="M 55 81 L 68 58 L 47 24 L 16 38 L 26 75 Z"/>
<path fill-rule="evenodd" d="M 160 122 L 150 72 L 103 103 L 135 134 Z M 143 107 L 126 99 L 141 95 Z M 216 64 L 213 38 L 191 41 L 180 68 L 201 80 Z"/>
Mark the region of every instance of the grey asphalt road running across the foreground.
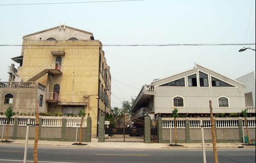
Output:
<path fill-rule="evenodd" d="M 207 162 L 214 162 L 206 150 Z M 255 149 L 218 149 L 219 162 L 255 162 Z M 23 162 L 24 146 L 0 145 L 0 162 Z M 33 162 L 29 146 L 27 162 Z M 100 149 L 93 147 L 38 147 L 39 162 L 203 162 L 200 149 Z"/>

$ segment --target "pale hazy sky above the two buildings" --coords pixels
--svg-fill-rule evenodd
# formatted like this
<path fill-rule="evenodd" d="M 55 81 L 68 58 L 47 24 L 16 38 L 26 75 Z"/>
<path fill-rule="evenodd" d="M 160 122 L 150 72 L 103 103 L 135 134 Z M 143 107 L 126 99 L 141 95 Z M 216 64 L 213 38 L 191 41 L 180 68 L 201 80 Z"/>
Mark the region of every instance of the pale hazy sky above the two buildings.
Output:
<path fill-rule="evenodd" d="M 86 1 L 93 0 L 0 0 L 0 4 Z M 255 29 L 252 34 L 255 0 L 245 41 L 251 3 L 251 0 L 146 0 L 0 6 L 0 44 L 22 44 L 24 35 L 58 26 L 59 22 L 92 32 L 103 44 L 250 43 L 252 36 L 255 43 Z M 141 88 L 151 84 L 154 78 L 193 68 L 194 62 L 238 78 L 255 70 L 255 51 L 238 52 L 242 47 L 103 47 L 103 50 L 112 78 Z M 0 46 L 2 80 L 7 80 L 10 58 L 19 56 L 20 50 L 21 47 Z M 117 97 L 130 99 L 139 91 L 112 80 L 112 106 L 120 106 L 121 100 Z"/>

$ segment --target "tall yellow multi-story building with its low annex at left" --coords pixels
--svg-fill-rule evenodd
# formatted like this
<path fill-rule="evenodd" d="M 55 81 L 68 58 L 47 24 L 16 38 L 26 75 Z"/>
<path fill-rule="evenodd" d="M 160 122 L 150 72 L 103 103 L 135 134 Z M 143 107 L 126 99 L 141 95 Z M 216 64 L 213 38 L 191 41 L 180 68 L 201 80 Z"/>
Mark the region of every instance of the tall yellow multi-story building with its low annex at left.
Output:
<path fill-rule="evenodd" d="M 92 33 L 60 25 L 26 35 L 22 55 L 12 60 L 19 66 L 12 64 L 10 81 L 1 83 L 1 112 L 13 105 L 15 112 L 34 113 L 36 101 L 40 112 L 52 115 L 85 109 L 96 137 L 98 117 L 110 112 L 111 74 Z"/>

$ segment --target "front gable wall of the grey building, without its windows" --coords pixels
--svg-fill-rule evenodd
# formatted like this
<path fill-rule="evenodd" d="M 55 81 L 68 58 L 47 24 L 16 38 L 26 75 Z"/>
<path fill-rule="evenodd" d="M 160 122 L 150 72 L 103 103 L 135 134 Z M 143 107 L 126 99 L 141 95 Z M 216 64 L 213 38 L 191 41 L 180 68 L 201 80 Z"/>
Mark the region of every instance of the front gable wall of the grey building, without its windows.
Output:
<path fill-rule="evenodd" d="M 187 76 L 198 73 L 199 70 L 207 73 L 209 79 L 210 75 L 212 75 L 236 87 L 211 87 L 211 80 L 209 80 L 210 87 L 207 88 L 187 87 Z M 182 77 L 185 77 L 186 87 L 158 87 L 159 85 Z M 197 78 L 199 86 L 199 75 Z M 184 98 L 185 106 L 177 107 L 179 113 L 209 113 L 209 100 L 212 101 L 214 113 L 241 113 L 241 110 L 245 109 L 244 85 L 199 65 L 187 72 L 159 80 L 158 82 L 152 83 L 152 85 L 154 85 L 155 93 L 155 114 L 172 113 L 174 105 L 173 98 L 175 96 L 182 96 Z M 218 107 L 218 98 L 221 96 L 229 98 L 230 107 Z"/>

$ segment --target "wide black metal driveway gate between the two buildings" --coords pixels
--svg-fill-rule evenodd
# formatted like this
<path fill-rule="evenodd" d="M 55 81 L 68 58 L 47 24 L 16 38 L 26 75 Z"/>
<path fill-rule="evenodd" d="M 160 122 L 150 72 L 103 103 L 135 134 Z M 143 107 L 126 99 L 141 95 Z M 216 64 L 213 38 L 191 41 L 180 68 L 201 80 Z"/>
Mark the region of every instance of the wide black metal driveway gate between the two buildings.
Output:
<path fill-rule="evenodd" d="M 144 142 L 144 120 L 118 117 L 105 121 L 105 142 Z"/>

